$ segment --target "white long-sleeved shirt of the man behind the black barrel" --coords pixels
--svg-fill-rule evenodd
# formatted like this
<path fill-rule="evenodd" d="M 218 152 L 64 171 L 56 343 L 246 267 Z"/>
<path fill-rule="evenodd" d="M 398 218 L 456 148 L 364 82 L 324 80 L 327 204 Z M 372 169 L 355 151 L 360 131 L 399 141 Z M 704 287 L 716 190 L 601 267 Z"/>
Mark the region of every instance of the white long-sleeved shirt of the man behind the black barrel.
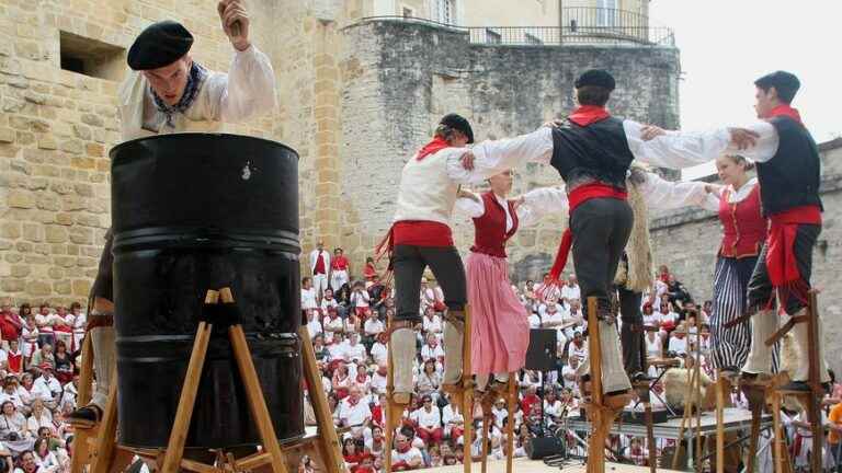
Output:
<path fill-rule="evenodd" d="M 173 116 L 173 126 L 155 105 L 149 82 L 130 71 L 120 89 L 118 113 L 124 140 L 191 131 L 198 123 L 238 123 L 274 108 L 275 72 L 269 57 L 251 45 L 236 51 L 228 73 L 208 71 L 193 104 Z"/>

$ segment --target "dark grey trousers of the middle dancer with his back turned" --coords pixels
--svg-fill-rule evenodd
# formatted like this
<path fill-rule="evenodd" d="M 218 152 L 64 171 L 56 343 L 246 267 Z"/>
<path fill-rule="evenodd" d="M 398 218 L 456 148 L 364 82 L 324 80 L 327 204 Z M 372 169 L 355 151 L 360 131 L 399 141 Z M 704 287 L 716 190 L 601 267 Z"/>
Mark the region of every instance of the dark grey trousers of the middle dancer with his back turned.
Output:
<path fill-rule="evenodd" d="M 628 203 L 614 198 L 590 199 L 570 215 L 573 264 L 585 318 L 589 297 L 598 298 L 600 313 L 611 313 L 614 276 L 634 218 Z"/>

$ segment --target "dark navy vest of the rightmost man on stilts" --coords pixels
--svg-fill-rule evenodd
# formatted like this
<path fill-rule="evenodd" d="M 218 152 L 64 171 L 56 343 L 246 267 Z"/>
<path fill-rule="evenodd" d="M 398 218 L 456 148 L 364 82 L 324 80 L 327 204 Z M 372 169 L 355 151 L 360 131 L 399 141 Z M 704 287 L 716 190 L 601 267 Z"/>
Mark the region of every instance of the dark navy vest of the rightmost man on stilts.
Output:
<path fill-rule="evenodd" d="M 822 208 L 821 164 L 812 136 L 804 125 L 787 116 L 769 122 L 777 130 L 780 142 L 771 160 L 758 163 L 763 215 L 769 217 L 801 206 Z"/>

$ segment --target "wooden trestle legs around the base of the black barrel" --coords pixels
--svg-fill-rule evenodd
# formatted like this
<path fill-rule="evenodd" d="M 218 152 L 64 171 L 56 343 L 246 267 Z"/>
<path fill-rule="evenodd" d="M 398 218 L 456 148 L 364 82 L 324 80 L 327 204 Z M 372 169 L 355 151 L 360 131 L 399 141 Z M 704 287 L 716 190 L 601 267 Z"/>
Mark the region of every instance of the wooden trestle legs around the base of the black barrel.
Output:
<path fill-rule="evenodd" d="M 234 296 L 229 288 L 219 290 L 208 290 L 205 296 L 205 304 L 214 305 L 221 301 L 223 304 L 234 304 Z M 76 454 L 73 455 L 72 473 L 81 473 L 86 463 L 90 463 L 91 473 L 109 473 L 121 471 L 132 458 L 137 454 L 146 461 L 157 465 L 157 470 L 163 473 L 175 473 L 179 470 L 186 470 L 196 473 L 236 473 L 260 468 L 270 468 L 273 473 L 287 473 L 291 466 L 288 455 L 284 453 L 277 441 L 272 418 L 263 397 L 263 391 L 260 387 L 251 354 L 246 341 L 246 334 L 240 324 L 231 325 L 228 328 L 228 336 L 231 342 L 234 356 L 237 361 L 240 376 L 244 383 L 246 394 L 249 402 L 249 408 L 252 419 L 258 426 L 261 437 L 262 451 L 235 459 L 230 453 L 218 452 L 214 464 L 205 464 L 197 461 L 186 460 L 184 455 L 184 446 L 186 442 L 187 430 L 193 415 L 193 407 L 198 390 L 202 368 L 204 367 L 205 356 L 207 354 L 208 343 L 210 341 L 212 322 L 202 321 L 198 323 L 196 337 L 193 342 L 190 362 L 187 365 L 184 384 L 181 390 L 175 419 L 170 430 L 170 438 L 166 449 L 129 449 L 116 445 L 117 427 L 117 405 L 116 405 L 116 385 L 111 387 L 109 401 L 103 413 L 102 422 L 96 429 L 83 429 L 77 434 Z M 310 399 L 314 404 L 319 435 L 315 445 L 306 443 L 306 440 L 299 443 L 285 446 L 288 452 L 295 452 L 297 449 L 315 449 L 317 458 L 320 458 L 326 471 L 329 473 L 340 473 L 344 471 L 344 463 L 339 451 L 339 439 L 333 426 L 330 409 L 327 400 L 321 391 L 321 379 L 316 367 L 316 357 L 310 345 L 307 328 L 299 328 L 299 335 L 303 341 L 304 351 L 304 374 L 310 390 Z M 83 366 L 80 376 L 79 405 L 86 405 L 90 402 L 90 389 L 92 383 L 93 354 L 90 337 L 86 337 L 83 346 Z M 114 379 L 114 378 L 113 378 Z M 297 389 L 292 387 L 292 389 Z M 93 446 L 90 440 L 95 436 Z"/>

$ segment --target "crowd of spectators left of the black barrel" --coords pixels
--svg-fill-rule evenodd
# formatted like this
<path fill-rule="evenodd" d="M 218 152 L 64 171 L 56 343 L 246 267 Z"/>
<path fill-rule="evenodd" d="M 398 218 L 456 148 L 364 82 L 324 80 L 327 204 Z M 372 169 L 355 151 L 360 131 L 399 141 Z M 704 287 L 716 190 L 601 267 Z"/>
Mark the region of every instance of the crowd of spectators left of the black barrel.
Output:
<path fill-rule="evenodd" d="M 70 471 L 77 357 L 84 337 L 80 303 L 0 304 L 0 471 Z"/>

